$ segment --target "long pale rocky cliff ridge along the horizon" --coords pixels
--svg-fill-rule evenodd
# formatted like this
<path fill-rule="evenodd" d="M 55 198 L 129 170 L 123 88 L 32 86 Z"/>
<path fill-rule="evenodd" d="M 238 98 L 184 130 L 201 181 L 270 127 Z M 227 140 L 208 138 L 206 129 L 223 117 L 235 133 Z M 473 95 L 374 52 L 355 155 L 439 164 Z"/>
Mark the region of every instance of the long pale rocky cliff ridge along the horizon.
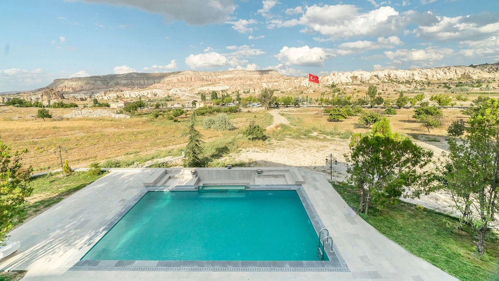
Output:
<path fill-rule="evenodd" d="M 480 80 L 482 82 L 499 79 L 499 62 L 470 66 L 448 66 L 409 70 L 375 70 L 332 72 L 319 77 L 324 87 L 335 84 L 393 82 L 448 82 L 457 80 Z M 239 91 L 244 94 L 258 93 L 263 87 L 270 87 L 285 92 L 300 92 L 309 86 L 307 77 L 289 77 L 280 75 L 275 70 L 229 70 L 229 71 L 176 71 L 167 73 L 127 73 L 90 76 L 83 78 L 56 79 L 48 86 L 22 93 L 25 99 L 41 100 L 66 99 L 81 101 L 87 98 L 115 100 L 131 99 L 139 96 L 148 98 L 162 96 L 193 97 L 199 92 Z M 5 102 L 12 95 L 0 96 Z"/>

